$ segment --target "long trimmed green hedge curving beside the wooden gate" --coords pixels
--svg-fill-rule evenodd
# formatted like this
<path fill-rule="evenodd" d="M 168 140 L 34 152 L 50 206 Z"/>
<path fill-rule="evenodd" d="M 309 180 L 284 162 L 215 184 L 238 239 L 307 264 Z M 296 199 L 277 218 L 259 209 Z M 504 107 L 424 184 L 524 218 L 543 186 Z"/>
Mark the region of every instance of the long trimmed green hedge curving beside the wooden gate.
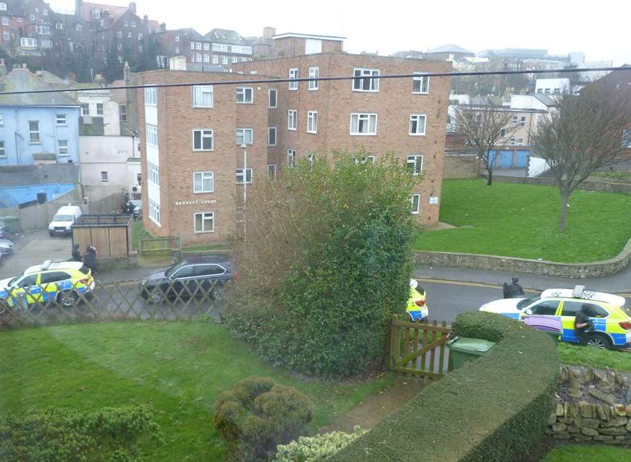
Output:
<path fill-rule="evenodd" d="M 458 336 L 499 342 L 447 374 L 330 462 L 504 462 L 543 435 L 559 357 L 548 335 L 493 313 L 456 317 Z"/>

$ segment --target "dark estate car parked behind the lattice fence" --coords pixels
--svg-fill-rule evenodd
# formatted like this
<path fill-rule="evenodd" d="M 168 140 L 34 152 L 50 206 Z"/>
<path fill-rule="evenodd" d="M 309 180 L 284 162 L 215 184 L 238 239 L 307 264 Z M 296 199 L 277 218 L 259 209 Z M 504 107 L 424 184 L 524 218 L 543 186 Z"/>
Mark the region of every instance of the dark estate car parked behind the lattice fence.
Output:
<path fill-rule="evenodd" d="M 232 280 L 232 264 L 218 256 L 192 256 L 141 279 L 138 288 L 141 296 L 153 303 L 165 299 L 187 299 L 191 295 L 210 295 L 221 299 L 225 283 Z"/>

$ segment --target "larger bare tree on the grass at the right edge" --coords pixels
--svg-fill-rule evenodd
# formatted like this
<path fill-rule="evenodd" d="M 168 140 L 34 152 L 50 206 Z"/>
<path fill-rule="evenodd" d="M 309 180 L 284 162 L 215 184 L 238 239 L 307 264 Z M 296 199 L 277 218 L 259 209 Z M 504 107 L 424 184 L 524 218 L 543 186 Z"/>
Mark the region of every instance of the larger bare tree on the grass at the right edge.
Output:
<path fill-rule="evenodd" d="M 561 194 L 559 231 L 566 229 L 572 192 L 594 171 L 628 160 L 631 97 L 602 79 L 580 92 L 567 87 L 557 97 L 557 108 L 537 125 L 531 142 L 554 176 Z"/>

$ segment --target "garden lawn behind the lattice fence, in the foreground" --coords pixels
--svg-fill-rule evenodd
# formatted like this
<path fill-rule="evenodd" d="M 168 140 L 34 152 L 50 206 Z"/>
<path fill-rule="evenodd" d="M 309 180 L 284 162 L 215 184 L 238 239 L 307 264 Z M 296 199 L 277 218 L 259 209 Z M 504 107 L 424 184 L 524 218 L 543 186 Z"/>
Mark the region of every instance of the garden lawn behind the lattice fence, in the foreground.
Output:
<path fill-rule="evenodd" d="M 111 322 L 0 331 L 0 411 L 42 406 L 94 410 L 145 403 L 166 444 L 147 461 L 221 461 L 215 399 L 250 375 L 294 386 L 314 402 L 314 431 L 392 381 L 301 379 L 266 365 L 218 324 Z"/>

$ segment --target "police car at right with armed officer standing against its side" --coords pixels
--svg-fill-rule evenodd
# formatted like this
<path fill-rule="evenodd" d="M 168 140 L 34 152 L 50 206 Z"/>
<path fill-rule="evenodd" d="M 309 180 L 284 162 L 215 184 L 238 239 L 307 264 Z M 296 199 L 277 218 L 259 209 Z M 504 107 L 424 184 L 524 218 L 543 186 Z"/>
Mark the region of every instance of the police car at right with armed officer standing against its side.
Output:
<path fill-rule="evenodd" d="M 619 295 L 574 289 L 548 289 L 531 298 L 501 299 L 481 306 L 480 311 L 500 313 L 520 319 L 525 315 L 552 316 L 561 320 L 564 342 L 578 343 L 574 332 L 574 318 L 586 306 L 593 330 L 588 345 L 600 348 L 624 348 L 631 344 L 631 308 Z"/>

